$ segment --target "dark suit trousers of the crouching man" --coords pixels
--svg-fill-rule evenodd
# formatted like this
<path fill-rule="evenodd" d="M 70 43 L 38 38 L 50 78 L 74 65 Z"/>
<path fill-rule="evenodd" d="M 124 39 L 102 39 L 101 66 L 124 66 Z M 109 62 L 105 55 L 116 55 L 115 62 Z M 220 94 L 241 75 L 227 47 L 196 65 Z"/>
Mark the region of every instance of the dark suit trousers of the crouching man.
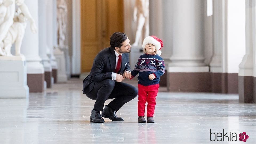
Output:
<path fill-rule="evenodd" d="M 118 111 L 123 104 L 131 101 L 137 97 L 137 95 L 138 90 L 134 86 L 110 79 L 95 82 L 93 90 L 86 93 L 88 98 L 96 100 L 94 103 L 94 109 L 98 111 L 103 110 L 105 101 L 107 99 L 114 98 L 113 101 L 107 105 L 113 108 L 115 111 Z"/>

